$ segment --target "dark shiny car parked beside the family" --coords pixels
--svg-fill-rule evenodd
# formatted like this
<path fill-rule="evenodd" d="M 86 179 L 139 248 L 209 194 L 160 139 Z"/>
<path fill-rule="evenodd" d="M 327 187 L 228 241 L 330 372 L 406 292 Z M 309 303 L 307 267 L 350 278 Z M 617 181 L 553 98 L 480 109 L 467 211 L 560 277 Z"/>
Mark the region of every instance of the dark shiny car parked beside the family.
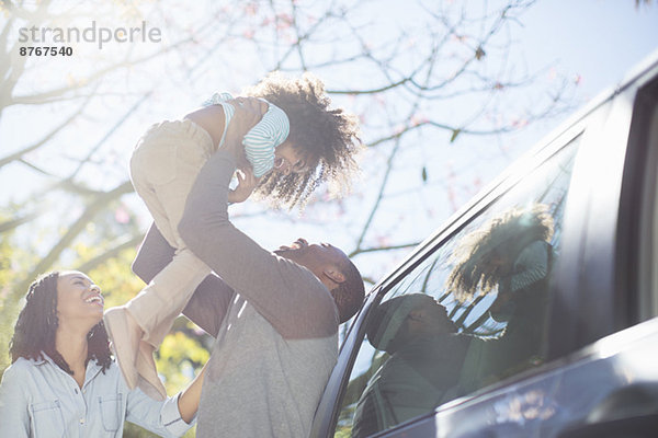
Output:
<path fill-rule="evenodd" d="M 311 436 L 658 436 L 657 170 L 654 56 L 372 289 Z"/>

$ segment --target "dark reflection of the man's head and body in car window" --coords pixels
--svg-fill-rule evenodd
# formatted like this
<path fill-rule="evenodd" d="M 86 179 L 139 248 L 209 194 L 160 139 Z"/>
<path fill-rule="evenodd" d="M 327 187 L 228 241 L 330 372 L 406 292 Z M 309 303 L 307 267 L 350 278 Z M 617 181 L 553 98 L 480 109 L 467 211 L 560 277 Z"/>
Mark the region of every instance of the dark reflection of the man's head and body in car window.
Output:
<path fill-rule="evenodd" d="M 373 311 L 370 343 L 390 355 L 356 404 L 353 437 L 365 437 L 426 414 L 457 384 L 473 336 L 457 334 L 432 297 L 411 293 Z"/>

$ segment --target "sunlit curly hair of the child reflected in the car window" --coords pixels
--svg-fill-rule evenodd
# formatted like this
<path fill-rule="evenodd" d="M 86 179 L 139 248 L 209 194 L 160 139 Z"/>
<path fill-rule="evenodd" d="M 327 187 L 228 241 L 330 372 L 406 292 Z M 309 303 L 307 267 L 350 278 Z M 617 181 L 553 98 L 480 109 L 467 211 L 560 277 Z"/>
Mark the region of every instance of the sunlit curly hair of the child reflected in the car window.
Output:
<path fill-rule="evenodd" d="M 491 218 L 457 244 L 446 292 L 453 292 L 461 302 L 472 299 L 478 289 L 481 295 L 488 293 L 501 279 L 498 268 L 491 269 L 486 263 L 492 251 L 513 256 L 534 241 L 549 242 L 552 238 L 553 217 L 545 204 L 512 208 Z"/>

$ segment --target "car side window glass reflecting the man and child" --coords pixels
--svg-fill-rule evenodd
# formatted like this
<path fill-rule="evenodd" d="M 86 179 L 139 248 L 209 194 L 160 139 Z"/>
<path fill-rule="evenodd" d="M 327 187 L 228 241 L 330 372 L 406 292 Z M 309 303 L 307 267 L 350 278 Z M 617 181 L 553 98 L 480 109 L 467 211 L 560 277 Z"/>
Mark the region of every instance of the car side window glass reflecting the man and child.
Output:
<path fill-rule="evenodd" d="M 579 138 L 401 278 L 366 318 L 336 437 L 366 437 L 544 362 Z"/>

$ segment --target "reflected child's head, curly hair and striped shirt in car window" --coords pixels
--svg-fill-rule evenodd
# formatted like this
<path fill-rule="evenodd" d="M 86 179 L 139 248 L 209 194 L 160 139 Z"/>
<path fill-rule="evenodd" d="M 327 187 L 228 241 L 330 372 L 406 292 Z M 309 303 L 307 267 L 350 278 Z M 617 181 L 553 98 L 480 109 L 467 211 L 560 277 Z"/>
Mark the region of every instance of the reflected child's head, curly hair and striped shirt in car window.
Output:
<path fill-rule="evenodd" d="M 454 252 L 446 288 L 462 302 L 498 287 L 491 315 L 509 319 L 510 298 L 546 277 L 551 264 L 553 218 L 547 207 L 511 209 L 465 235 Z"/>

